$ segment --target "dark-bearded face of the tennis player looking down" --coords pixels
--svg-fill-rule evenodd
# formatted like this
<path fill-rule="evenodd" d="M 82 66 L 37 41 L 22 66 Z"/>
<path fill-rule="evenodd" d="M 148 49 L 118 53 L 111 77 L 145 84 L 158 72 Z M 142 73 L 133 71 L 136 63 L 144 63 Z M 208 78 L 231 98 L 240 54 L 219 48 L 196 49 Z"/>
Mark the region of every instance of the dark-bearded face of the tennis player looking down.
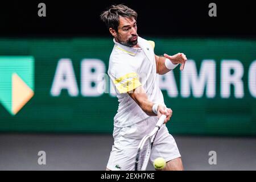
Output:
<path fill-rule="evenodd" d="M 118 31 L 116 32 L 115 38 L 119 43 L 133 47 L 138 43 L 138 34 L 137 34 L 137 22 L 131 17 L 122 17 L 119 18 Z"/>

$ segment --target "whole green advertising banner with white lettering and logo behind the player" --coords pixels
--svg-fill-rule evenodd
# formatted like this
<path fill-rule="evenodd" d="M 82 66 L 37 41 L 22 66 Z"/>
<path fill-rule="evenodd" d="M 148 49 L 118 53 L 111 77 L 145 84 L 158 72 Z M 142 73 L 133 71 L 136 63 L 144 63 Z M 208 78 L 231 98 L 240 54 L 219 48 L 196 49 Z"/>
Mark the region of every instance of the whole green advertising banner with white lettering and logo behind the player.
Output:
<path fill-rule="evenodd" d="M 159 76 L 172 134 L 256 136 L 256 40 L 167 39 L 183 52 Z M 0 39 L 0 131 L 112 133 L 118 100 L 106 72 L 112 38 Z"/>

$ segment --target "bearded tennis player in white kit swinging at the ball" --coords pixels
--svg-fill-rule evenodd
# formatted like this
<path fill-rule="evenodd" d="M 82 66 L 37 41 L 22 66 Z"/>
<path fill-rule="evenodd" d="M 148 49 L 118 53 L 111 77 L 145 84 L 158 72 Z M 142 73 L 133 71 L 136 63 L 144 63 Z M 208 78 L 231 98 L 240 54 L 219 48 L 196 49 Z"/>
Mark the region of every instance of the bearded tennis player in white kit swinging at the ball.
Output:
<path fill-rule="evenodd" d="M 183 53 L 155 55 L 155 43 L 138 36 L 137 13 L 125 5 L 109 7 L 101 14 L 101 20 L 114 37 L 108 75 L 119 102 L 114 117 L 114 145 L 106 170 L 134 170 L 141 139 L 154 129 L 160 115 L 167 115 L 164 123 L 172 116 L 172 110 L 164 104 L 158 75 L 179 64 L 183 70 L 187 58 Z M 166 125 L 156 135 L 150 162 L 158 157 L 167 162 L 164 170 L 183 170 L 179 149 Z"/>

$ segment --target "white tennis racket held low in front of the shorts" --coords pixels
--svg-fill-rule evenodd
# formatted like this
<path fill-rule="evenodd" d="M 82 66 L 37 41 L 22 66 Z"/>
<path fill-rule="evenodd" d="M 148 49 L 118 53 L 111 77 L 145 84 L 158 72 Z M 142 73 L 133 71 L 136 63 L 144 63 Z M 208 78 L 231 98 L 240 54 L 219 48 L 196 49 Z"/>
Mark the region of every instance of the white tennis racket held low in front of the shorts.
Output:
<path fill-rule="evenodd" d="M 148 160 L 150 159 L 151 148 L 153 146 L 155 135 L 158 133 L 158 130 L 163 125 L 165 119 L 166 115 L 162 114 L 156 123 L 155 128 L 150 132 L 150 134 L 144 136 L 139 143 L 135 161 L 135 171 L 146 170 Z"/>

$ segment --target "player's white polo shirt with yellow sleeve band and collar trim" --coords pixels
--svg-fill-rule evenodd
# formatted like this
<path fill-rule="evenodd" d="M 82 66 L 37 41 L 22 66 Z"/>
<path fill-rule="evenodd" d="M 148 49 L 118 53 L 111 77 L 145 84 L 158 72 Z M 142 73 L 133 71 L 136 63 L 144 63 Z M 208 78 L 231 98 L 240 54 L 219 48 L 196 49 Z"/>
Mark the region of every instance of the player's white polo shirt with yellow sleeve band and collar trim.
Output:
<path fill-rule="evenodd" d="M 108 69 L 119 102 L 114 126 L 126 127 L 149 117 L 127 92 L 142 85 L 149 101 L 165 104 L 156 73 L 155 43 L 141 37 L 140 48 L 123 46 L 115 40 L 114 43 Z"/>

